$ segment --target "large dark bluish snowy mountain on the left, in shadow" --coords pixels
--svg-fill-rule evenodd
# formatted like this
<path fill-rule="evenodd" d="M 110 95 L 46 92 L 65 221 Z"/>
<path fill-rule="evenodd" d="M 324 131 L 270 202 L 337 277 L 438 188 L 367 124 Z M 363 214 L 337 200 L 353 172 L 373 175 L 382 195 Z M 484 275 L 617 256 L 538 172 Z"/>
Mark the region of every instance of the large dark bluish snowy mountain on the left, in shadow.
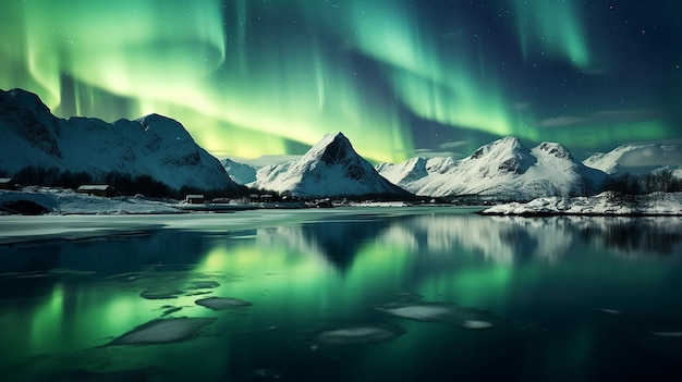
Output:
<path fill-rule="evenodd" d="M 27 165 L 94 176 L 149 175 L 175 189 L 238 186 L 174 120 L 158 114 L 114 123 L 64 120 L 32 93 L 0 90 L 0 170 L 11 175 Z"/>

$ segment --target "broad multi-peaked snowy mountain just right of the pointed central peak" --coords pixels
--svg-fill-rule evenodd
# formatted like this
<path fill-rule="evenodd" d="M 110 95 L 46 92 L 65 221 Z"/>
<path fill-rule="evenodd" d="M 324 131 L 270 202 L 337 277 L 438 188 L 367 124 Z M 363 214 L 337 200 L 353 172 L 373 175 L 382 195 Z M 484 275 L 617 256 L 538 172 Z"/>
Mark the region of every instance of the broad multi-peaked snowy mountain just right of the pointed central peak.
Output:
<path fill-rule="evenodd" d="M 413 158 L 377 169 L 416 195 L 483 195 L 519 200 L 583 195 L 588 188 L 594 190 L 606 176 L 575 161 L 562 145 L 543 143 L 528 149 L 514 137 L 482 146 L 460 161 Z"/>

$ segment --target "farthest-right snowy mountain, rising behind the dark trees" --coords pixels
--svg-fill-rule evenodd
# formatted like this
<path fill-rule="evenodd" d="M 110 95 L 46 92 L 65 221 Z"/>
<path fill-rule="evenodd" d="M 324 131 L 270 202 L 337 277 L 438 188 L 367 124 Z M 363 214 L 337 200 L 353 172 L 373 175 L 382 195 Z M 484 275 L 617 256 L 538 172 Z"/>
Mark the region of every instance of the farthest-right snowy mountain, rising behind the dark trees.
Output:
<path fill-rule="evenodd" d="M 624 173 L 640 176 L 668 169 L 682 177 L 682 151 L 672 145 L 622 145 L 609 152 L 597 152 L 583 163 L 613 176 Z"/>

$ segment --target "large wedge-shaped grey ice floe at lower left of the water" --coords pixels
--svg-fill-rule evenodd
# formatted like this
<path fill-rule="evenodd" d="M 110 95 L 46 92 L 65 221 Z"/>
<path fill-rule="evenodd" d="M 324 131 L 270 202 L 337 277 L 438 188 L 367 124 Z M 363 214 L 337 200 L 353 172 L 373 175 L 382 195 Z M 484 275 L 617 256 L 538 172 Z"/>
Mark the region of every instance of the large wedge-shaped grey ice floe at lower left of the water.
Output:
<path fill-rule="evenodd" d="M 197 337 L 202 328 L 215 320 L 188 317 L 156 319 L 124 333 L 108 345 L 153 345 L 187 341 Z"/>

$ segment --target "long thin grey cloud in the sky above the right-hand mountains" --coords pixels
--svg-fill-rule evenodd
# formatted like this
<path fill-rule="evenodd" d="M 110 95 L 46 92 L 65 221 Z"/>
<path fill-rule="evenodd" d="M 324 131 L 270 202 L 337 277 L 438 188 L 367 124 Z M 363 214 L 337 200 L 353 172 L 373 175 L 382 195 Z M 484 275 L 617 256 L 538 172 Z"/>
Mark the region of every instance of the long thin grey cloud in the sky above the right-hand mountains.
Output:
<path fill-rule="evenodd" d="M 560 115 L 540 120 L 540 127 L 562 127 L 572 125 L 612 125 L 623 123 L 637 123 L 659 118 L 658 109 L 635 110 L 599 110 L 583 115 Z"/>

